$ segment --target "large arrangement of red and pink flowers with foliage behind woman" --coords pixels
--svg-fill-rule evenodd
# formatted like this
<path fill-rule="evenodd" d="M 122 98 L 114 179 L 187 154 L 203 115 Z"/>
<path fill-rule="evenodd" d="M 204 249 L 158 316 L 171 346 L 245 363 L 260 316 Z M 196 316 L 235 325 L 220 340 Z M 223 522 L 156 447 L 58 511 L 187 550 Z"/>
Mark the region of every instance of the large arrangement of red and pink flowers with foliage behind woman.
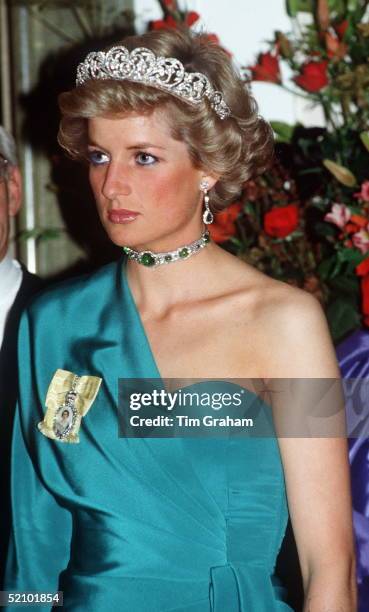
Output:
<path fill-rule="evenodd" d="M 159 0 L 154 29 L 192 26 L 194 11 Z M 294 31 L 275 32 L 245 68 L 324 113 L 324 128 L 272 122 L 275 163 L 215 215 L 212 238 L 258 269 L 312 292 L 340 340 L 369 327 L 369 23 L 367 0 L 287 0 Z M 301 11 L 310 13 L 300 23 Z M 210 35 L 219 42 L 215 34 Z M 283 64 L 291 76 L 282 75 Z"/>

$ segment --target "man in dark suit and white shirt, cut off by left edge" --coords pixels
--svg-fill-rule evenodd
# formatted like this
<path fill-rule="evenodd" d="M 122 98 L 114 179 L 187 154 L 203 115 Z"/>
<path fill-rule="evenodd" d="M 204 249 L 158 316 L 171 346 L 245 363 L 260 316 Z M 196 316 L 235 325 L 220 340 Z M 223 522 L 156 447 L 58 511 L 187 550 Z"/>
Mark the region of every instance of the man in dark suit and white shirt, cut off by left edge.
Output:
<path fill-rule="evenodd" d="M 17 336 L 22 311 L 42 281 L 9 252 L 10 219 L 21 206 L 15 142 L 0 126 L 0 590 L 10 529 L 10 442 L 18 386 Z"/>

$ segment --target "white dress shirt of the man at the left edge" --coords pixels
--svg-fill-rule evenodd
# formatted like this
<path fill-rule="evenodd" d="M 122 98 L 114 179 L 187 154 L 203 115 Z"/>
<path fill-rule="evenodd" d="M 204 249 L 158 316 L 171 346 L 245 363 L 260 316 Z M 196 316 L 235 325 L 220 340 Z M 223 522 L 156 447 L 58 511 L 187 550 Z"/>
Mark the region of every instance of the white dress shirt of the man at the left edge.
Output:
<path fill-rule="evenodd" d="M 0 261 L 0 348 L 4 338 L 6 319 L 22 283 L 20 263 L 9 252 Z"/>

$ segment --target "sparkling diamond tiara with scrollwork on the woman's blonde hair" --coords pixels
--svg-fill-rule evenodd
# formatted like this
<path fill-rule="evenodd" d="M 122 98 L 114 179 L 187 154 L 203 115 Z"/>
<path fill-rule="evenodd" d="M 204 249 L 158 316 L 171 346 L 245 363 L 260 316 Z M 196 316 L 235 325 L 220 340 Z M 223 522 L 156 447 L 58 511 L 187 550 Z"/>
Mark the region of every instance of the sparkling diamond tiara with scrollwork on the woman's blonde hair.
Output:
<path fill-rule="evenodd" d="M 92 51 L 78 65 L 76 85 L 89 79 L 136 81 L 167 91 L 190 104 L 200 104 L 205 97 L 221 119 L 231 114 L 220 91 L 216 91 L 201 72 L 186 72 L 175 57 L 156 56 L 150 49 L 137 47 L 129 52 L 119 46 L 109 51 Z"/>

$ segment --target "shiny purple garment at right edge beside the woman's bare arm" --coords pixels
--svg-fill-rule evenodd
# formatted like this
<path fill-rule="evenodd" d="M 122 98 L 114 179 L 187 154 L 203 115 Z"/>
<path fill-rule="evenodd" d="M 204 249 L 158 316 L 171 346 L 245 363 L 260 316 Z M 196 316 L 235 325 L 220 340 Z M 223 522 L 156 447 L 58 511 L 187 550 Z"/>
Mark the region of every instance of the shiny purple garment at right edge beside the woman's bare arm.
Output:
<path fill-rule="evenodd" d="M 369 379 L 369 331 L 355 331 L 336 347 L 336 352 L 343 378 Z M 346 410 L 349 412 L 352 410 L 349 401 Z M 348 421 L 353 421 L 356 415 L 347 416 Z M 369 438 L 363 435 L 350 438 L 349 449 L 359 612 L 367 612 L 369 610 Z"/>

